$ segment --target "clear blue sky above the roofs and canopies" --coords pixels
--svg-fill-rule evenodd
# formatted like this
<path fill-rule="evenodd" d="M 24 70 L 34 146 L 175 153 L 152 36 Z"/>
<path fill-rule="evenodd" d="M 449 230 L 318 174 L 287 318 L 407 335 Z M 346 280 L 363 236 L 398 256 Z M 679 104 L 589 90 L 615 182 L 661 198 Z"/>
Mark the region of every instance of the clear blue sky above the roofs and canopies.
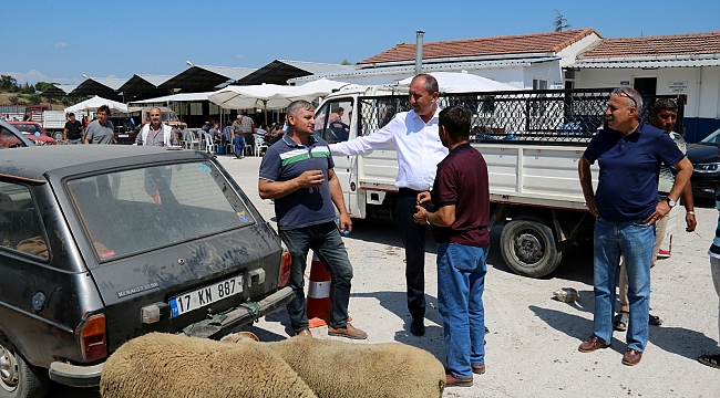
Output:
<path fill-rule="evenodd" d="M 572 29 L 605 38 L 720 31 L 720 1 L 0 0 L 0 74 L 19 83 L 175 75 L 274 60 L 356 63 L 398 43 Z"/>

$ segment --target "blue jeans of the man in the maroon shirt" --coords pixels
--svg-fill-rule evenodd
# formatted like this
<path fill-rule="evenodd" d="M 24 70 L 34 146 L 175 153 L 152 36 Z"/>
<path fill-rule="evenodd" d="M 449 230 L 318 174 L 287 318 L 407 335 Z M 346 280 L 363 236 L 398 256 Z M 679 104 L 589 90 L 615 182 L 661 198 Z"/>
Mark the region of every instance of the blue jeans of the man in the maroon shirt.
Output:
<path fill-rule="evenodd" d="M 485 363 L 483 291 L 490 247 L 438 245 L 438 307 L 443 321 L 446 371 L 471 378 L 471 365 Z"/>

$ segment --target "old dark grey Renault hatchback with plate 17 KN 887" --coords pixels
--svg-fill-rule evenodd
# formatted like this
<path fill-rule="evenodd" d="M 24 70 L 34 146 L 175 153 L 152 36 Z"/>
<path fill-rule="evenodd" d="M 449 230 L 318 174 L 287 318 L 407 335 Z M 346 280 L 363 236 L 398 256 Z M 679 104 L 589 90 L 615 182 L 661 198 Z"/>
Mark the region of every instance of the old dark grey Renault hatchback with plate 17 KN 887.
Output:
<path fill-rule="evenodd" d="M 219 338 L 287 304 L 289 272 L 277 233 L 204 153 L 3 150 L 0 396 L 96 385 L 148 332 Z"/>

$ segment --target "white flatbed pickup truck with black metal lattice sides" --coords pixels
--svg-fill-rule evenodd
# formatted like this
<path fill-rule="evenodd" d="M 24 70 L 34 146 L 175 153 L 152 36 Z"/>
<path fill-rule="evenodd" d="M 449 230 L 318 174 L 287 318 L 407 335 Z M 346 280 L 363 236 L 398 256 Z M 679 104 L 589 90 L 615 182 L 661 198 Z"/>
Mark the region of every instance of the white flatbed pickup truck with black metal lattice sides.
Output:
<path fill-rule="evenodd" d="M 577 164 L 601 123 L 610 91 L 441 95 L 441 107 L 462 104 L 473 112 L 472 146 L 487 163 L 491 227 L 504 226 L 500 250 L 514 272 L 545 276 L 559 265 L 567 244 L 592 242 L 595 218 L 585 206 Z M 409 109 L 402 88 L 348 87 L 320 104 L 316 135 L 329 144 L 352 139 Z M 395 218 L 393 147 L 333 159 L 351 217 Z M 593 177 L 597 185 L 597 166 Z M 666 242 L 677 230 L 677 214 L 671 213 Z"/>

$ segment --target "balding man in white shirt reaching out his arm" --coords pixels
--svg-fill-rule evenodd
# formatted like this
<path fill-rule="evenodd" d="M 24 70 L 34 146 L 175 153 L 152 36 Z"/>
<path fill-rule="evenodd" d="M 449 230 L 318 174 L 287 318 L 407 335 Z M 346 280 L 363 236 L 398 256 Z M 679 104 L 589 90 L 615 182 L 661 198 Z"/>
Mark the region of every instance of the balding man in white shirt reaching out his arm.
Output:
<path fill-rule="evenodd" d="M 332 155 L 363 155 L 394 145 L 398 151 L 398 221 L 405 247 L 408 310 L 412 316 L 410 332 L 425 333 L 425 228 L 414 222 L 418 195 L 429 191 L 435 181 L 438 164 L 448 148 L 438 134 L 438 81 L 419 74 L 410 83 L 412 111 L 401 112 L 384 127 L 368 136 L 330 145 Z"/>

